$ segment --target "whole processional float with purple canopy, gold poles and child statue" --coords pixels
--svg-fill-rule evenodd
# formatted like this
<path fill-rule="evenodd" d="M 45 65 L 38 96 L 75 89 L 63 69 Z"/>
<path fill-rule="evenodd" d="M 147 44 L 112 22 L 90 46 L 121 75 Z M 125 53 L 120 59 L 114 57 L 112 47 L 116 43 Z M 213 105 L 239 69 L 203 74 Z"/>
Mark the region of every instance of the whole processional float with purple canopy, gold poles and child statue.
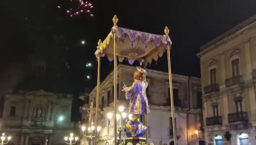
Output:
<path fill-rule="evenodd" d="M 168 56 L 168 70 L 169 70 L 169 85 L 171 94 L 171 114 L 172 114 L 172 127 L 174 135 L 174 144 L 177 145 L 176 127 L 172 97 L 172 73 L 171 73 L 171 59 L 170 49 L 172 41 L 169 38 L 169 29 L 165 27 L 164 35 L 156 35 L 147 32 L 134 31 L 131 29 L 118 27 L 118 18 L 116 15 L 113 17 L 114 26 L 112 27 L 107 38 L 101 42 L 98 42 L 98 49 L 95 52 L 95 56 L 98 61 L 98 78 L 97 78 L 97 98 L 96 98 L 96 115 L 95 125 L 98 125 L 98 108 L 99 108 L 99 96 L 100 96 L 100 58 L 105 55 L 109 61 L 114 60 L 114 114 L 117 114 L 117 59 L 119 62 L 127 59 L 130 64 L 133 64 L 135 60 L 138 60 L 143 66 L 151 64 L 152 60 L 158 60 L 163 56 L 163 53 L 167 50 Z M 117 122 L 114 121 L 115 137 L 114 142 L 117 144 L 148 144 L 147 142 L 147 114 L 149 114 L 148 100 L 146 96 L 146 71 L 140 67 L 137 67 L 137 71 L 134 73 L 134 83 L 132 86 L 124 85 L 123 90 L 125 92 L 126 99 L 130 100 L 129 113 L 131 113 L 132 119 L 127 120 L 124 124 L 124 131 L 127 136 L 124 142 L 117 142 Z M 145 115 L 145 124 L 142 124 L 139 120 L 140 115 Z M 114 115 L 116 120 L 116 115 Z M 95 132 L 96 134 L 96 132 Z M 97 145 L 97 135 L 95 135 L 94 143 Z"/>

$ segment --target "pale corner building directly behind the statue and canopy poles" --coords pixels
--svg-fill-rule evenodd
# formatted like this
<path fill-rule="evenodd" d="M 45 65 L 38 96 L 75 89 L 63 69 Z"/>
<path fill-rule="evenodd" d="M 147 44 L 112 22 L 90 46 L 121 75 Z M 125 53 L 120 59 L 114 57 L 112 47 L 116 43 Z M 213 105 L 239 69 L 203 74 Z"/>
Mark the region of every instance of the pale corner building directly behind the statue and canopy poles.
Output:
<path fill-rule="evenodd" d="M 136 67 L 119 65 L 117 67 L 117 106 L 123 106 L 124 111 L 120 113 L 120 119 L 117 126 L 121 127 L 124 121 L 128 119 L 128 103 L 125 100 L 125 93 L 121 91 L 123 83 L 132 85 L 133 73 Z M 146 70 L 148 88 L 147 96 L 150 107 L 150 114 L 147 116 L 147 130 L 148 142 L 156 142 L 160 145 L 173 144 L 173 128 L 172 116 L 170 110 L 170 92 L 169 92 L 169 78 L 168 73 Z M 200 136 L 200 126 L 202 124 L 202 93 L 201 93 L 201 80 L 195 77 L 182 76 L 172 74 L 173 79 L 173 101 L 175 106 L 175 120 L 176 132 L 178 136 L 178 143 L 182 145 L 196 144 L 196 138 Z M 113 145 L 114 137 L 114 117 L 108 119 L 109 113 L 114 113 L 114 72 L 111 72 L 106 79 L 100 84 L 100 100 L 99 100 L 99 123 L 101 126 L 100 134 L 98 137 L 99 145 Z M 96 106 L 96 87 L 89 94 L 89 102 L 93 102 Z M 89 104 L 84 104 L 85 108 Z M 81 124 L 86 125 L 89 120 L 87 112 L 81 109 L 82 121 Z M 121 114 L 127 115 L 121 115 Z M 123 118 L 124 117 L 124 118 Z M 141 116 L 140 119 L 144 123 L 145 117 Z M 93 116 L 92 120 L 95 120 Z M 199 134 L 195 134 L 195 131 Z M 119 134 L 119 133 L 118 133 Z M 124 133 L 121 134 L 121 139 L 125 138 Z M 85 143 L 86 144 L 86 143 Z"/>

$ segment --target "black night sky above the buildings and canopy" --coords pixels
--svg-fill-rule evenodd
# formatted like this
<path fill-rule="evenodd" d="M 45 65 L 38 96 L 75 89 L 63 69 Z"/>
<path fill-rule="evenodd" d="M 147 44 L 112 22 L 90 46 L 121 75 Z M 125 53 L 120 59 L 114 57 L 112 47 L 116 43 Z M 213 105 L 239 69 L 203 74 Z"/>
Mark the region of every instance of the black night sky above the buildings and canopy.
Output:
<path fill-rule="evenodd" d="M 57 8 L 68 0 L 1 0 L 0 2 L 0 69 L 6 72 L 13 62 L 28 59 L 33 53 L 52 53 L 51 35 L 64 35 L 62 46 L 68 48 L 64 60 L 70 65 L 69 80 L 73 93 L 85 86 L 95 86 L 97 62 L 94 56 L 97 42 L 104 40 L 113 26 L 116 14 L 118 26 L 164 34 L 170 29 L 172 40 L 172 72 L 200 77 L 200 46 L 256 14 L 255 0 L 93 0 L 94 17 L 69 17 Z M 84 40 L 85 45 L 80 45 Z M 49 49 L 51 48 L 51 49 Z M 152 64 L 151 69 L 167 72 L 167 56 Z M 86 68 L 92 63 L 92 68 Z M 113 69 L 105 58 L 101 79 Z M 64 73 L 64 72 L 63 72 Z M 90 75 L 91 79 L 86 79 Z"/>

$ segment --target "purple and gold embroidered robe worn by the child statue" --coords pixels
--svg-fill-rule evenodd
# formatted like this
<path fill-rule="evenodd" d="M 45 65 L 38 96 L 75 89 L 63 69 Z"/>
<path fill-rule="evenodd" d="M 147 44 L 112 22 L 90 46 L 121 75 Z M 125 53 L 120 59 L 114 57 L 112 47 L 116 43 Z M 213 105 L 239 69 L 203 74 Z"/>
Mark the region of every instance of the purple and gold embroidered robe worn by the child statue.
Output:
<path fill-rule="evenodd" d="M 146 81 L 135 80 L 132 86 L 127 87 L 125 98 L 130 100 L 129 113 L 134 115 L 149 114 L 148 98 L 146 96 Z"/>

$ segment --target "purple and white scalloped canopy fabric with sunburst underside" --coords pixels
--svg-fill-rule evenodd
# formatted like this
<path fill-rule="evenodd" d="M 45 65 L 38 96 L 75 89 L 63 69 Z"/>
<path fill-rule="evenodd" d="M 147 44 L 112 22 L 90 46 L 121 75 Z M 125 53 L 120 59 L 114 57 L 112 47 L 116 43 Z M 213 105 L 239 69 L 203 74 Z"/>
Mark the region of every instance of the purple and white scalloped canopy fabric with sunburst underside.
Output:
<path fill-rule="evenodd" d="M 106 55 L 109 61 L 113 61 L 114 32 L 116 32 L 116 55 L 120 62 L 127 58 L 130 64 L 133 64 L 135 60 L 151 64 L 152 59 L 157 61 L 159 57 L 163 56 L 167 45 L 172 44 L 168 35 L 157 35 L 113 26 L 107 38 L 96 50 L 96 57 Z"/>

